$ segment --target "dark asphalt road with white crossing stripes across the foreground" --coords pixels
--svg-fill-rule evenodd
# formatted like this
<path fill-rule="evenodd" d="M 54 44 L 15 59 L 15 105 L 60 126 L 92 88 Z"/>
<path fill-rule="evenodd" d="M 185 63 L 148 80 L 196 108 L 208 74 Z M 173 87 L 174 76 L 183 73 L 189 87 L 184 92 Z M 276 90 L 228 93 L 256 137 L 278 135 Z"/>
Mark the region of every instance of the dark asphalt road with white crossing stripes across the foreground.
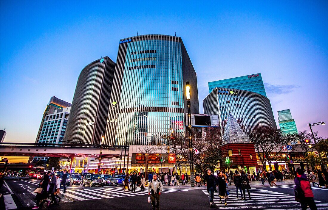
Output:
<path fill-rule="evenodd" d="M 6 184 L 0 189 L 6 195 L 6 209 L 14 207 L 18 209 L 31 209 L 35 205 L 32 193 L 39 180 L 27 178 L 5 178 Z M 251 182 L 252 200 L 236 199 L 236 188 L 228 186 L 230 193 L 227 204 L 220 204 L 218 193 L 215 193 L 214 202 L 216 209 L 300 209 L 299 203 L 294 200 L 293 181 L 277 182 L 278 187 L 264 186 L 258 182 Z M 11 191 L 11 192 L 10 192 Z M 147 202 L 147 189 L 140 192 L 123 191 L 122 186 L 86 186 L 80 190 L 77 185 L 67 187 L 66 193 L 60 193 L 60 203 L 49 206 L 48 209 L 152 209 Z M 62 191 L 61 191 L 62 192 Z M 313 189 L 318 209 L 328 209 L 328 189 L 315 187 Z M 247 192 L 246 192 L 246 197 Z M 12 200 L 10 200 L 12 198 Z M 14 202 L 14 204 L 12 204 Z M 4 205 L 3 205 L 4 206 Z M 0 205 L 1 209 L 2 206 Z M 44 209 L 47 207 L 44 205 Z M 160 209 L 211 209 L 206 187 L 190 186 L 164 186 L 160 197 Z"/>

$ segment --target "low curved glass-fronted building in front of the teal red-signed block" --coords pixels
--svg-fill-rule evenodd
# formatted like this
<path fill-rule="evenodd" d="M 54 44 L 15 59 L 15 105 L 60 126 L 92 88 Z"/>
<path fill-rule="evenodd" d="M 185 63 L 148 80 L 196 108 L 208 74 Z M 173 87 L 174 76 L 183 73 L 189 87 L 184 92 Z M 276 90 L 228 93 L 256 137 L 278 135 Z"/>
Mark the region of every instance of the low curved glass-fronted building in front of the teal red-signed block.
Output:
<path fill-rule="evenodd" d="M 227 101 L 230 103 L 227 103 Z M 244 132 L 257 125 L 277 128 L 270 100 L 261 94 L 231 88 L 215 88 L 204 100 L 204 114 L 217 114 L 225 128 L 229 112 Z"/>

